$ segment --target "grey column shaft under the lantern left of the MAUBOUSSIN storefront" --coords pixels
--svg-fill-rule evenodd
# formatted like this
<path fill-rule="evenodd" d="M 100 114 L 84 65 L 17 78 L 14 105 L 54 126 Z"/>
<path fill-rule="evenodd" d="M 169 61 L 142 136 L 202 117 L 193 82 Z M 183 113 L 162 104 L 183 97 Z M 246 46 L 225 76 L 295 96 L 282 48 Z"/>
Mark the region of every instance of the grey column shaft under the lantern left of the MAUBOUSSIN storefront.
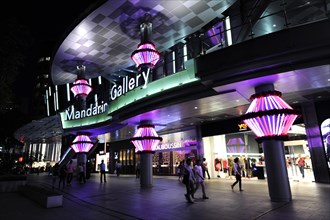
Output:
<path fill-rule="evenodd" d="M 141 175 L 140 185 L 141 187 L 151 188 L 153 187 L 152 178 L 152 154 L 151 152 L 140 153 Z"/>

